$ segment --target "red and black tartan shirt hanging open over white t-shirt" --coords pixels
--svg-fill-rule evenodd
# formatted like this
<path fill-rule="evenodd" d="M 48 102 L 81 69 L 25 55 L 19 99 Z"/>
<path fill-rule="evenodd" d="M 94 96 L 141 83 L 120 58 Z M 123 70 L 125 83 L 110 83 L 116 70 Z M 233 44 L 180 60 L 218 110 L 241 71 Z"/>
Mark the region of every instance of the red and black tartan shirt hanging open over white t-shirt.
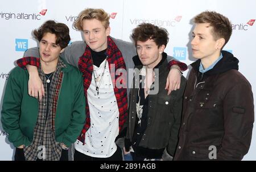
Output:
<path fill-rule="evenodd" d="M 106 50 L 106 55 L 108 56 L 107 61 L 109 63 L 109 70 L 111 70 L 111 64 L 114 64 L 115 72 L 118 68 L 123 68 L 126 70 L 125 60 L 122 57 L 121 51 L 117 48 L 114 41 L 108 37 L 108 49 Z M 89 46 L 86 46 L 84 54 L 79 59 L 79 69 L 82 72 L 82 76 L 84 78 L 84 93 L 86 98 L 86 123 L 84 128 L 81 131 L 81 135 L 78 137 L 78 140 L 84 143 L 85 140 L 85 132 L 90 127 L 90 113 L 87 99 L 87 89 L 90 86 L 92 81 L 93 74 L 93 62 L 92 55 L 90 53 Z M 115 81 L 121 77 L 122 75 L 115 75 L 115 72 L 110 72 L 112 83 L 114 86 L 115 98 L 117 98 L 117 105 L 119 109 L 119 132 L 123 127 L 123 124 L 126 121 L 127 117 L 127 89 L 126 88 L 117 88 L 115 85 Z M 126 85 L 125 80 L 122 80 L 124 85 Z"/>

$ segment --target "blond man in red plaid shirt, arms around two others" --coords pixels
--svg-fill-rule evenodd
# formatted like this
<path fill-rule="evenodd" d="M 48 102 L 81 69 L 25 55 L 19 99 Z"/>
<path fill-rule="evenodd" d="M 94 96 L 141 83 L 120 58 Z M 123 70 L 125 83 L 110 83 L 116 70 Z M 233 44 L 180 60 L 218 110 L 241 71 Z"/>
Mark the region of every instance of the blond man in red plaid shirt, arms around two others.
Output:
<path fill-rule="evenodd" d="M 122 160 L 121 149 L 115 140 L 121 135 L 126 121 L 129 85 L 125 74 L 115 74 L 120 69 L 133 69 L 132 57 L 137 54 L 136 49 L 131 42 L 109 36 L 109 15 L 102 9 L 88 8 L 81 11 L 75 28 L 83 33 L 85 42 L 73 42 L 61 54 L 68 63 L 79 67 L 84 77 L 86 124 L 75 143 L 74 159 Z M 28 93 L 40 99 L 44 90 L 36 67 L 33 67 L 38 66 L 38 59 L 33 58 L 37 57 L 36 51 L 36 48 L 29 49 L 18 65 L 27 65 L 31 78 Z M 170 94 L 180 87 L 180 70 L 186 70 L 187 65 L 173 61 L 172 57 L 168 57 L 168 61 L 170 66 L 179 66 L 178 70 L 177 67 L 171 67 L 167 78 L 166 89 Z M 136 62 L 140 63 L 139 60 Z M 119 80 L 121 82 L 118 83 Z M 126 86 L 120 88 L 118 84 Z"/>

